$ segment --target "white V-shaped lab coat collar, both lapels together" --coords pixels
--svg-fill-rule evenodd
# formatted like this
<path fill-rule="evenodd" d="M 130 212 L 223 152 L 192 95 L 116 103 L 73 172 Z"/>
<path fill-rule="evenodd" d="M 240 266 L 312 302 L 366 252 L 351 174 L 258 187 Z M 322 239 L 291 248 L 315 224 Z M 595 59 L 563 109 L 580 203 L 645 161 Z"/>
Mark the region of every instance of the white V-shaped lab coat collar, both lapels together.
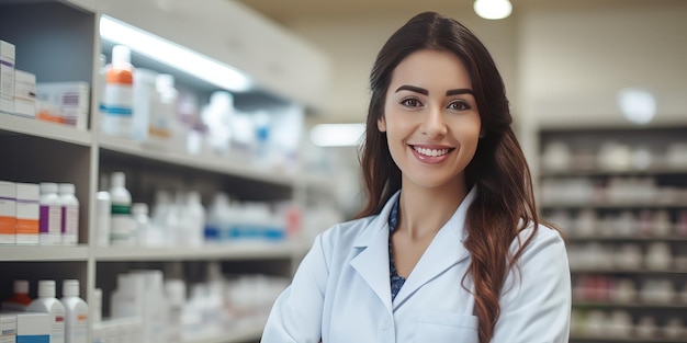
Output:
<path fill-rule="evenodd" d="M 351 265 L 390 311 L 392 311 L 392 304 L 388 275 L 388 215 L 399 194 L 401 191 L 396 192 L 380 214 L 363 229 L 353 243 L 353 247 L 362 248 L 362 251 L 351 260 Z M 453 216 L 437 232 L 394 299 L 394 310 L 423 285 L 468 258 L 469 252 L 463 245 L 463 240 L 468 235 L 465 215 L 476 194 L 477 187 L 473 186 Z"/>

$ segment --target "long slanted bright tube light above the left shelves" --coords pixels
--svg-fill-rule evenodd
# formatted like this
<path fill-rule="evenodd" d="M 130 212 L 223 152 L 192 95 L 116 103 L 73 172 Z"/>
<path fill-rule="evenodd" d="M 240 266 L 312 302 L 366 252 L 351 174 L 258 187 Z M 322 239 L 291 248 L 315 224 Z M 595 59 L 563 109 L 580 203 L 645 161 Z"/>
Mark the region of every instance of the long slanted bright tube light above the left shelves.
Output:
<path fill-rule="evenodd" d="M 100 36 L 222 89 L 245 92 L 251 88 L 248 77 L 233 67 L 111 16 L 100 18 Z"/>

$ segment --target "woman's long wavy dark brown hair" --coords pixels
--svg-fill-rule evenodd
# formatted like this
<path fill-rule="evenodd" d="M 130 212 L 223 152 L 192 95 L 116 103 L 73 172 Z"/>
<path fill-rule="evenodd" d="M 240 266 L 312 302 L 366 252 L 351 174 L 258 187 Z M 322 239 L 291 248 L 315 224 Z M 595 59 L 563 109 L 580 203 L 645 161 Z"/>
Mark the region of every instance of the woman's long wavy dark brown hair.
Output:
<path fill-rule="evenodd" d="M 483 138 L 465 168 L 469 187 L 478 192 L 466 216 L 465 248 L 471 253 L 469 272 L 474 284 L 475 313 L 480 319 L 480 342 L 491 341 L 500 313 L 498 304 L 507 273 L 517 267 L 522 251 L 536 233 L 539 218 L 532 181 L 525 155 L 511 128 L 504 81 L 492 56 L 480 39 L 458 21 L 433 12 L 415 15 L 398 28 L 380 50 L 370 75 L 371 100 L 365 139 L 359 157 L 367 204 L 358 218 L 376 215 L 401 188 L 401 170 L 392 160 L 386 134 L 378 129 L 384 116 L 384 101 L 392 73 L 408 55 L 435 49 L 451 52 L 465 65 L 472 81 Z M 514 240 L 527 225 L 533 230 L 519 249 L 510 252 Z"/>

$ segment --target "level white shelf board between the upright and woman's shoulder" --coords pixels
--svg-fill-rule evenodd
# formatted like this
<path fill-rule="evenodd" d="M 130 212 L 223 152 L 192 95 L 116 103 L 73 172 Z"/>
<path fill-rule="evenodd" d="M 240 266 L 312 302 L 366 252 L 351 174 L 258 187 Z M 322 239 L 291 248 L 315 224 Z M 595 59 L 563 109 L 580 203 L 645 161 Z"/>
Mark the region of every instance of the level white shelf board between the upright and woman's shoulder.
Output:
<path fill-rule="evenodd" d="M 108 247 L 94 248 L 93 258 L 98 262 L 127 261 L 239 261 L 292 259 L 306 251 L 296 242 L 236 242 L 198 248 L 138 248 Z"/>

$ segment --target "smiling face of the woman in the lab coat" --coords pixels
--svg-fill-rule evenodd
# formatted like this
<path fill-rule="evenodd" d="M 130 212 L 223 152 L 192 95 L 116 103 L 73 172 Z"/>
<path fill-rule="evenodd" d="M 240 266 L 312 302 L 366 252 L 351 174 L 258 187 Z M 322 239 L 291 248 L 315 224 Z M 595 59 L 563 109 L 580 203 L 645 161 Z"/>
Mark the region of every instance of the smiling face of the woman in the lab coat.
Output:
<path fill-rule="evenodd" d="M 402 60 L 393 71 L 378 128 L 386 132 L 404 187 L 463 187 L 481 130 L 463 62 L 452 53 L 429 49 Z"/>

